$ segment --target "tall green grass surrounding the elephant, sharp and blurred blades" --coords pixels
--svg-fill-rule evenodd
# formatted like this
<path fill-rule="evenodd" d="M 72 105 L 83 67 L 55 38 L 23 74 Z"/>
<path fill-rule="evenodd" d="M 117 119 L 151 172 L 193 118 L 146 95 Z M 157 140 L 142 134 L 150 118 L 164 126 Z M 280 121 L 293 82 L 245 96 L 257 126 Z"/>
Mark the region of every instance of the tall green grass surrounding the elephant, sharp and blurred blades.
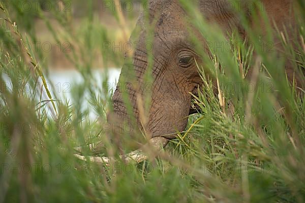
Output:
<path fill-rule="evenodd" d="M 192 5 L 182 2 L 186 11 L 193 11 Z M 157 158 L 138 164 L 117 161 L 110 166 L 75 158 L 73 148 L 88 143 L 106 143 L 105 153 L 116 149 L 103 130 L 111 92 L 96 88 L 91 54 L 101 51 L 111 35 L 107 27 L 94 23 L 94 8 L 88 5 L 87 12 L 82 11 L 86 15 L 81 30 L 69 26 L 70 13 L 52 12 L 64 30 L 60 35 L 45 13 L 33 14 L 44 20 L 52 40 L 73 45 L 66 56 L 84 82 L 72 84 L 72 101 L 59 100 L 56 95 L 51 98 L 41 91 L 43 84 L 38 79 L 44 80 L 52 71 L 47 69 L 43 50 L 18 50 L 20 38 L 23 42 L 37 38 L 34 17 L 1 11 L 1 40 L 15 46 L 2 49 L 0 59 L 0 75 L 6 74 L 14 87 L 7 87 L 0 77 L 0 203 L 305 201 L 305 98 L 288 84 L 284 74 L 278 76 L 284 70 L 284 59 L 259 50 L 255 50 L 259 58 L 255 57 L 246 44 L 233 45 L 231 53 L 215 52 L 214 58 L 197 48 L 207 64 L 204 69 L 198 65 L 205 83 L 193 101 L 201 112 L 189 118 L 186 131 L 178 133 Z M 190 15 L 210 42 L 225 41 L 221 32 L 207 29 L 196 12 Z M 12 26 L 14 22 L 17 26 Z M 304 39 L 304 22 L 299 27 L 296 35 Z M 259 44 L 257 30 L 248 31 Z M 232 35 L 231 40 L 238 41 L 238 36 Z M 291 50 L 291 44 L 286 47 L 289 56 L 285 60 L 299 61 L 295 68 L 304 69 L 304 45 L 298 50 Z M 119 58 L 111 50 L 102 57 L 105 67 Z M 249 66 L 261 71 L 247 80 L 240 74 L 240 65 L 242 73 Z M 216 69 L 219 66 L 226 72 Z M 207 72 L 220 81 L 223 106 Z M 227 88 L 238 84 L 236 81 L 242 82 L 240 91 Z M 270 82 L 278 91 L 266 91 Z M 247 91 L 249 83 L 255 84 L 253 91 Z M 88 119 L 88 111 L 81 111 L 82 101 L 93 107 L 98 119 Z"/>

